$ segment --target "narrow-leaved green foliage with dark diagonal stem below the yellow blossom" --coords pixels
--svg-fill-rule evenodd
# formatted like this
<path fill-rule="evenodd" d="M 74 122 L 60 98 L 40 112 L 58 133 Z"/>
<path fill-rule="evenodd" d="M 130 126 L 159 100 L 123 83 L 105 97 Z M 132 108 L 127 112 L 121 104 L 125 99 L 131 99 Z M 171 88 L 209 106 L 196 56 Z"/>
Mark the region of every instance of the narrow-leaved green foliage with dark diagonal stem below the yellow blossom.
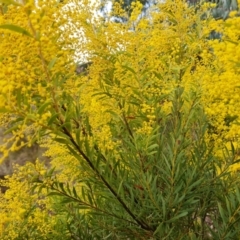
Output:
<path fill-rule="evenodd" d="M 102 94 L 106 99 L 115 98 L 108 92 Z M 116 100 L 120 108 L 127 104 L 124 99 Z M 132 107 L 140 105 L 136 99 L 129 101 Z M 118 154 L 101 152 L 79 132 L 75 141 L 65 126 L 61 127 L 61 138 L 55 140 L 67 145 L 88 173 L 78 179 L 78 189 L 49 175 L 48 196 L 58 199 L 57 214 L 67 216 L 71 236 L 237 239 L 239 180 L 228 172 L 234 153 L 226 150 L 227 165 L 213 155 L 205 140 L 207 119 L 198 95 L 177 86 L 161 98 L 171 103 L 168 114 L 158 104 L 159 98 L 149 101 L 155 106 L 156 119 L 149 135 L 135 131 L 147 119 L 140 108 L 131 121 L 126 117 L 130 112 L 122 116 L 113 113 L 110 127 L 121 142 Z M 84 126 L 91 134 L 87 119 Z"/>

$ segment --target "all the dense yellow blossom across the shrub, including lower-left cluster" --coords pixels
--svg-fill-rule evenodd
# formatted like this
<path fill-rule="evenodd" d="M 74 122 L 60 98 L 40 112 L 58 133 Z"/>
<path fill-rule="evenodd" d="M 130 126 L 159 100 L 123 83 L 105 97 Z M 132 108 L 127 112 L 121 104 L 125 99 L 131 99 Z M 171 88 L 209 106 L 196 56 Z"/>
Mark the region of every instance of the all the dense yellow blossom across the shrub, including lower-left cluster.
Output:
<path fill-rule="evenodd" d="M 97 149 L 117 159 L 124 154 L 123 134 L 139 139 L 151 135 L 161 116 L 171 113 L 171 94 L 180 87 L 185 89 L 184 99 L 192 99 L 191 93 L 201 96 L 212 127 L 207 140 L 214 142 L 220 159 L 227 141 L 234 140 L 238 148 L 239 18 L 232 13 L 226 22 L 201 21 L 203 11 L 213 5 L 205 4 L 196 14 L 177 0 L 162 4 L 150 21 L 138 20 L 142 5 L 136 2 L 129 22 L 120 25 L 95 17 L 99 7 L 88 0 L 64 4 L 39 0 L 37 5 L 27 1 L 10 6 L 0 15 L 0 25 L 13 24 L 27 31 L 20 34 L 0 28 L 1 125 L 20 118 L 13 136 L 0 146 L 3 157 L 45 140 L 56 179 L 74 185 L 86 176 L 84 159 L 54 141 L 56 136 L 59 142 L 86 141 L 89 146 L 82 144 L 83 151 L 89 147 L 90 152 Z M 114 11 L 124 14 L 119 4 Z M 223 32 L 222 41 L 206 39 L 213 29 Z M 76 58 L 93 62 L 88 76 L 74 73 Z M 183 103 L 184 114 L 191 104 Z M 119 127 L 121 123 L 126 129 Z M 22 141 L 25 135 L 27 143 Z M 233 165 L 232 170 L 238 169 Z M 0 198 L 2 239 L 16 238 L 24 224 L 24 231 L 35 227 L 44 239 L 62 217 L 52 214 L 54 203 L 46 192 L 42 199 L 36 193 L 30 195 L 31 177 L 44 178 L 45 173 L 41 164 L 27 165 L 7 181 L 10 189 Z M 52 184 L 52 179 L 44 181 Z"/>

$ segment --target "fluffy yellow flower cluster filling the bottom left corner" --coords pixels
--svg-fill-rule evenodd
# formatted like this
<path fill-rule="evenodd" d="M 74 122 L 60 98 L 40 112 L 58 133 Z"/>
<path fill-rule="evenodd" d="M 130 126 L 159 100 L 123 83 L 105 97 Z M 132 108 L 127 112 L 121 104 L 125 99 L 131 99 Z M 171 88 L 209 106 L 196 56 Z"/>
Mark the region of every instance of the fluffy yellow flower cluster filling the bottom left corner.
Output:
<path fill-rule="evenodd" d="M 37 192 L 31 192 L 31 176 L 43 172 L 45 169 L 39 162 L 36 166 L 29 163 L 16 168 L 13 176 L 1 182 L 9 188 L 5 194 L 0 194 L 1 239 L 34 239 L 46 236 L 53 230 L 57 219 L 51 215 L 54 211 L 50 198 L 44 197 L 44 191 L 42 197 Z"/>

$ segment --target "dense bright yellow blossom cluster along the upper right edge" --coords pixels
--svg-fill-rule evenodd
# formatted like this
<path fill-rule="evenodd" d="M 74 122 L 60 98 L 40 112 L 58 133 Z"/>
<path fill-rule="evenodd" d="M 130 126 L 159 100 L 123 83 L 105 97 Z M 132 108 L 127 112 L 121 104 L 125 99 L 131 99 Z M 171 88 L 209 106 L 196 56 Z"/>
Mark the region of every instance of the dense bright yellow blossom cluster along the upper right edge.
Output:
<path fill-rule="evenodd" d="M 231 14 L 225 22 L 212 20 L 212 27 L 222 33 L 222 40 L 213 40 L 215 71 L 205 77 L 206 111 L 221 139 L 234 140 L 239 145 L 239 64 L 240 19 Z M 209 101 L 210 100 L 210 101 Z M 220 135 L 219 135 L 220 136 Z"/>

